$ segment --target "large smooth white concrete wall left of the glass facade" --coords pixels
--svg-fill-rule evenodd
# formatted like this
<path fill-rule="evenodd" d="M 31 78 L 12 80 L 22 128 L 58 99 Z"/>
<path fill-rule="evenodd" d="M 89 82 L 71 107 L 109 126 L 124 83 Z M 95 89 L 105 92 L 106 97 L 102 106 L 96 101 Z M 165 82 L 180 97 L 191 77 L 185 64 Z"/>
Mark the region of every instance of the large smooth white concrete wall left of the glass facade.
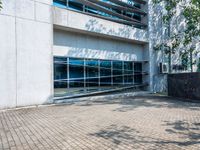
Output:
<path fill-rule="evenodd" d="M 2 0 L 0 108 L 42 104 L 53 94 L 52 0 Z"/>

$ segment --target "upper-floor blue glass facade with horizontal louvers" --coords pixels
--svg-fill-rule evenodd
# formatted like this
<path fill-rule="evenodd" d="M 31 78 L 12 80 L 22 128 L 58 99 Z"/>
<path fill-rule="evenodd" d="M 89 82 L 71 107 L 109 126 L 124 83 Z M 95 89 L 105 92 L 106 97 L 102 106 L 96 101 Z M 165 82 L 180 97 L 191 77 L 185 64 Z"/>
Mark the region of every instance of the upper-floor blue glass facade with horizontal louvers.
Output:
<path fill-rule="evenodd" d="M 83 12 L 87 15 L 131 25 L 137 28 L 147 27 L 147 25 L 141 21 L 142 17 L 147 15 L 147 13 L 141 9 L 141 5 L 145 4 L 146 1 L 143 0 L 54 0 L 55 6 Z"/>

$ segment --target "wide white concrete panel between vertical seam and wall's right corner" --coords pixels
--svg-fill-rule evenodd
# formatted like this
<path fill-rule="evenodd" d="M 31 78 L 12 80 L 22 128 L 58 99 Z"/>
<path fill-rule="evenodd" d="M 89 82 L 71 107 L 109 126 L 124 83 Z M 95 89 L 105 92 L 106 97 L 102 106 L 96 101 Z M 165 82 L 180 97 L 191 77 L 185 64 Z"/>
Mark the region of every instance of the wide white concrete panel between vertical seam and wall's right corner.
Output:
<path fill-rule="evenodd" d="M 50 24 L 17 19 L 18 106 L 46 103 L 50 99 L 51 30 Z"/>

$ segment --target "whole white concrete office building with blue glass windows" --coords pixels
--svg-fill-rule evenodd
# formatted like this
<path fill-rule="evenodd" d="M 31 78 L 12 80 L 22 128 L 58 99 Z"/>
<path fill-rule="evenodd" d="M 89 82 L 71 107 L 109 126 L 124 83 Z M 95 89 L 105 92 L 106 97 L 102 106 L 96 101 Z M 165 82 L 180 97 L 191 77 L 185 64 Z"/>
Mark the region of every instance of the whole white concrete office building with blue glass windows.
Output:
<path fill-rule="evenodd" d="M 151 0 L 2 3 L 0 108 L 165 90 L 153 52 L 160 20 L 153 20 Z"/>

